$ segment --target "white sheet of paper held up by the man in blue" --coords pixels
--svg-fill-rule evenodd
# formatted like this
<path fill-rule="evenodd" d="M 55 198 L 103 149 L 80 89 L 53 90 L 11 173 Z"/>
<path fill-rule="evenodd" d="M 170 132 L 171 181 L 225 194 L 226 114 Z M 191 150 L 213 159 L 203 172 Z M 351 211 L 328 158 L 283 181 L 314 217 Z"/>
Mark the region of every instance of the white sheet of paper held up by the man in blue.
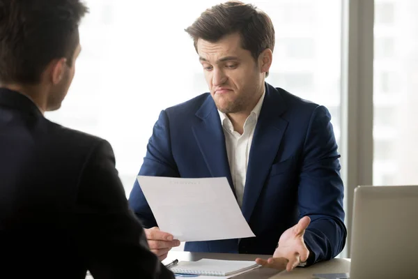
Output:
<path fill-rule="evenodd" d="M 226 177 L 138 176 L 137 179 L 160 230 L 173 234 L 179 241 L 255 236 Z"/>

